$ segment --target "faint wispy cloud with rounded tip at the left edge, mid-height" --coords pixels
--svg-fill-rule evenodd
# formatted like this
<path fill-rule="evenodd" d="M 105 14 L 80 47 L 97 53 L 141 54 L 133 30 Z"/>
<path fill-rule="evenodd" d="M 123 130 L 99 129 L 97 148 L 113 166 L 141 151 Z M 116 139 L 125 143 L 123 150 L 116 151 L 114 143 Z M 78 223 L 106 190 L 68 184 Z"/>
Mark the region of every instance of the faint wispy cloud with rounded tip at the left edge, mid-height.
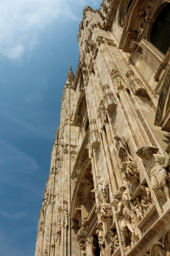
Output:
<path fill-rule="evenodd" d="M 10 170 L 18 173 L 31 173 L 38 169 L 34 159 L 24 154 L 13 145 L 0 139 L 0 170 Z"/>

